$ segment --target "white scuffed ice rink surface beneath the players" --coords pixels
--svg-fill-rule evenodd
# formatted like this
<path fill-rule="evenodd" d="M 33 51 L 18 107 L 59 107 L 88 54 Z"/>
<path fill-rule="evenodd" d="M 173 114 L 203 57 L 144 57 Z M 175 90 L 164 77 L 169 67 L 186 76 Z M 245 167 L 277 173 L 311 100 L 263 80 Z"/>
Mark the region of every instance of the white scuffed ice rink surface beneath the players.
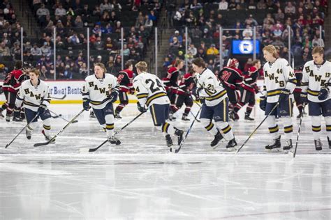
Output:
<path fill-rule="evenodd" d="M 81 105 L 52 104 L 50 109 L 71 120 Z M 122 120 L 115 120 L 115 130 L 138 113 L 130 104 Z M 263 112 L 256 108 L 252 117 L 254 122 L 231 123 L 238 146 L 263 120 Z M 293 144 L 299 121 L 293 117 Z M 61 118 L 52 122 L 52 134 L 66 125 Z M 191 122 L 177 119 L 172 124 L 186 131 Z M 226 151 L 225 142 L 212 150 L 213 137 L 196 123 L 182 150 L 170 154 L 149 113 L 119 133 L 120 146 L 107 143 L 96 152 L 81 153 L 81 148 L 105 141 L 97 121 L 85 112 L 56 144 L 34 148 L 45 141 L 39 123 L 31 140 L 22 132 L 5 149 L 24 125 L 0 120 L 1 220 L 331 218 L 331 150 L 325 123 L 323 150 L 316 152 L 308 116 L 295 159 L 291 153 L 265 152 L 270 142 L 266 125 L 236 155 Z"/>

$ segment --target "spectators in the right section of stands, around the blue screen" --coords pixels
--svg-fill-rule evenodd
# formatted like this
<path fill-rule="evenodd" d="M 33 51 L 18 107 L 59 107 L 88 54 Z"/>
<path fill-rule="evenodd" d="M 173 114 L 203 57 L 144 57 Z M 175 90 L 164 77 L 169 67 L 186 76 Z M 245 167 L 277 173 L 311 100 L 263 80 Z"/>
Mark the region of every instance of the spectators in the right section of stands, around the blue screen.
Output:
<path fill-rule="evenodd" d="M 169 40 L 169 54 L 164 68 L 175 57 L 202 57 L 213 70 L 219 70 L 219 53 L 224 60 L 230 54 L 230 41 L 233 39 L 252 40 L 253 27 L 256 26 L 256 39 L 261 46 L 274 45 L 283 58 L 288 58 L 288 35 L 291 39 L 291 53 L 296 64 L 303 65 L 312 47 L 324 46 L 320 38 L 320 26 L 328 15 L 328 1 L 300 0 L 185 0 L 177 5 L 176 1 L 167 4 L 169 22 L 175 31 Z M 185 30 L 189 27 L 189 50 L 185 52 Z M 221 48 L 219 27 L 235 29 L 223 31 Z M 290 31 L 288 31 L 288 26 Z"/>

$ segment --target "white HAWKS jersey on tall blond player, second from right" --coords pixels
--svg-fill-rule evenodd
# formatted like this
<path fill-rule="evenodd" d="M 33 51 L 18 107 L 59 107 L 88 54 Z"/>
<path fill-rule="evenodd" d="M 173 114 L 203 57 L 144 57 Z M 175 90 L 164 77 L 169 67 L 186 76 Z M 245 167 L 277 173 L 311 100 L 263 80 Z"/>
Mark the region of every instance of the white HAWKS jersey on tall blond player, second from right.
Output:
<path fill-rule="evenodd" d="M 297 79 L 286 59 L 277 58 L 274 63 L 265 63 L 263 72 L 265 77 L 263 95 L 267 96 L 267 102 L 278 102 L 279 94 L 284 90 L 290 91 L 290 98 L 293 99 L 293 91 L 297 84 Z"/>

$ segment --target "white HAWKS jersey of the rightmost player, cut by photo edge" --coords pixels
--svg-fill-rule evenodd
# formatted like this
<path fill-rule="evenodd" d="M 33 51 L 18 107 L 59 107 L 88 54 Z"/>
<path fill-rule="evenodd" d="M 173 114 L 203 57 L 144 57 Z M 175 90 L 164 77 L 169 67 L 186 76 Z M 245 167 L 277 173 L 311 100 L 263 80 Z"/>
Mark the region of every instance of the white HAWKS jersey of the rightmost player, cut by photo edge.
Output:
<path fill-rule="evenodd" d="M 318 93 L 321 88 L 331 84 L 331 63 L 324 61 L 322 65 L 317 65 L 314 61 L 304 64 L 302 70 L 301 92 L 308 93 L 308 100 L 311 102 L 324 102 L 318 100 Z M 327 100 L 331 98 L 330 94 Z"/>

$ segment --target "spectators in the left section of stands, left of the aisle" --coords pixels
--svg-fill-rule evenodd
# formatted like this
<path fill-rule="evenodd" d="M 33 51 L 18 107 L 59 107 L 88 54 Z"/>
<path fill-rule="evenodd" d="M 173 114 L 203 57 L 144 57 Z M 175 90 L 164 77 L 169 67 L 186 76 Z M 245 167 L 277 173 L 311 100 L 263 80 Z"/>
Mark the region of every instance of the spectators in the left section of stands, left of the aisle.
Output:
<path fill-rule="evenodd" d="M 53 32 L 56 27 L 57 79 L 84 79 L 88 41 L 91 67 L 93 63 L 102 61 L 107 63 L 109 72 L 113 66 L 113 72 L 121 68 L 122 27 L 124 62 L 128 59 L 141 60 L 145 56 L 152 27 L 156 25 L 161 3 L 157 0 L 34 0 L 30 9 L 38 22 L 38 38 L 24 38 L 24 61 L 37 65 L 44 79 L 54 77 Z M 17 48 L 13 44 L 7 46 L 10 50 L 20 48 L 20 45 Z M 10 61 L 20 59 L 18 51 L 9 55 Z"/>

